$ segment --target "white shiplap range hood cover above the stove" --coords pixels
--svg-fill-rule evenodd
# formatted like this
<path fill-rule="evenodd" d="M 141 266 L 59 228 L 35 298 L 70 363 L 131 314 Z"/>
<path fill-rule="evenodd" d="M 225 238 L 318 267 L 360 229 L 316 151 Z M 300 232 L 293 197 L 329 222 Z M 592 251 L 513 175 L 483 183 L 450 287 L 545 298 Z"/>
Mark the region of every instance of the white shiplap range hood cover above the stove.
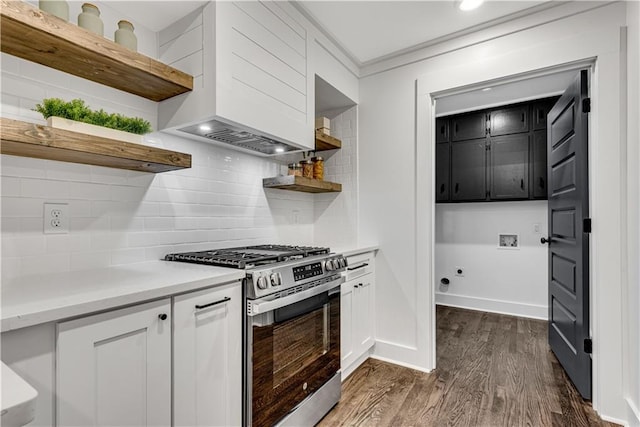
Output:
<path fill-rule="evenodd" d="M 159 128 L 206 140 L 179 129 L 215 120 L 209 135 L 241 125 L 313 149 L 308 25 L 288 2 L 239 1 L 210 2 L 163 30 L 160 58 L 195 80 L 192 92 L 160 103 Z"/>

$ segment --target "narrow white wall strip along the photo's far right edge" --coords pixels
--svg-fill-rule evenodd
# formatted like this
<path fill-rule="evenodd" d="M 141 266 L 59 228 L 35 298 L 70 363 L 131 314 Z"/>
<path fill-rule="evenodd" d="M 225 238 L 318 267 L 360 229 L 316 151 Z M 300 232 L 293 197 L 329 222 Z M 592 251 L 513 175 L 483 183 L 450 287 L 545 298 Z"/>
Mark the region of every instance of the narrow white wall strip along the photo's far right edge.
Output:
<path fill-rule="evenodd" d="M 627 58 L 627 285 L 623 294 L 626 301 L 625 339 L 627 343 L 624 359 L 626 398 L 629 424 L 640 426 L 640 3 L 627 2 L 627 50 L 636 52 Z"/>

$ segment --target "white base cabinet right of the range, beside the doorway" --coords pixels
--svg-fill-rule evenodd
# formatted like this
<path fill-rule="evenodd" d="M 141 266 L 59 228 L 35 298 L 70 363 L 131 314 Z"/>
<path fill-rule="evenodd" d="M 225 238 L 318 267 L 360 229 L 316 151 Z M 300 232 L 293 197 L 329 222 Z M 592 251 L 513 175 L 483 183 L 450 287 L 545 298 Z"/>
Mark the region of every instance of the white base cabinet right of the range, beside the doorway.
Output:
<path fill-rule="evenodd" d="M 340 352 L 343 378 L 368 357 L 375 343 L 375 253 L 347 257 L 340 300 Z"/>

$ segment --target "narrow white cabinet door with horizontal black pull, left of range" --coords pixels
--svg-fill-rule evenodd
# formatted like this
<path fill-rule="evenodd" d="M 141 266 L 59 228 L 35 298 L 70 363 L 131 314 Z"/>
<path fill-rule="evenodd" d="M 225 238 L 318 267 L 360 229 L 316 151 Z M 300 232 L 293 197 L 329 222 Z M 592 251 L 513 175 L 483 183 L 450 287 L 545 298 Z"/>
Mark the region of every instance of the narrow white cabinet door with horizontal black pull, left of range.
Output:
<path fill-rule="evenodd" d="M 242 420 L 239 283 L 174 297 L 174 422 L 237 426 Z"/>

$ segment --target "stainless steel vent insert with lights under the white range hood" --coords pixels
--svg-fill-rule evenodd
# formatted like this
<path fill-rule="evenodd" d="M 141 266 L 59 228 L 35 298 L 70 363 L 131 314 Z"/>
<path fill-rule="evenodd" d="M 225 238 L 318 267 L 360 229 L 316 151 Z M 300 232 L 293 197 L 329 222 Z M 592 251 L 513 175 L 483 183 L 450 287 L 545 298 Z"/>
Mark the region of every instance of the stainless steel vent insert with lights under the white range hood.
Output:
<path fill-rule="evenodd" d="M 190 135 L 232 145 L 233 148 L 236 149 L 247 150 L 254 154 L 260 153 L 265 156 L 301 150 L 293 145 L 289 145 L 263 135 L 258 135 L 238 126 L 233 126 L 218 120 L 209 120 L 203 123 L 178 128 L 178 130 Z"/>

